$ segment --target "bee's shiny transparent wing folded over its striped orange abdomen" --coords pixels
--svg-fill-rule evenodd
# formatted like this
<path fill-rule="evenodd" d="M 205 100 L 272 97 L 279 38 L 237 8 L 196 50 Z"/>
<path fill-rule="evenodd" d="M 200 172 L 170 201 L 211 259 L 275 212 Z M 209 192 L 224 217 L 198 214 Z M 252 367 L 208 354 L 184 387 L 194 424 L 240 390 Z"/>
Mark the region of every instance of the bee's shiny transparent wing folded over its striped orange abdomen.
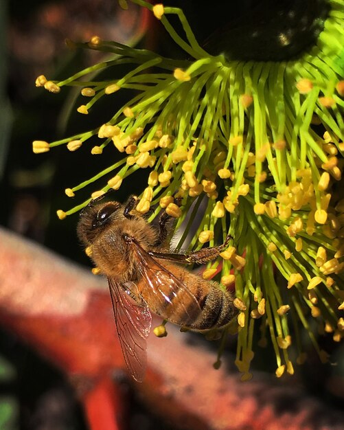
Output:
<path fill-rule="evenodd" d="M 152 291 L 149 300 L 147 299 L 150 309 L 174 324 L 190 326 L 201 312 L 195 295 L 182 280 L 141 248 L 136 240 L 132 240 L 131 245 L 136 256 L 137 270 Z"/>

